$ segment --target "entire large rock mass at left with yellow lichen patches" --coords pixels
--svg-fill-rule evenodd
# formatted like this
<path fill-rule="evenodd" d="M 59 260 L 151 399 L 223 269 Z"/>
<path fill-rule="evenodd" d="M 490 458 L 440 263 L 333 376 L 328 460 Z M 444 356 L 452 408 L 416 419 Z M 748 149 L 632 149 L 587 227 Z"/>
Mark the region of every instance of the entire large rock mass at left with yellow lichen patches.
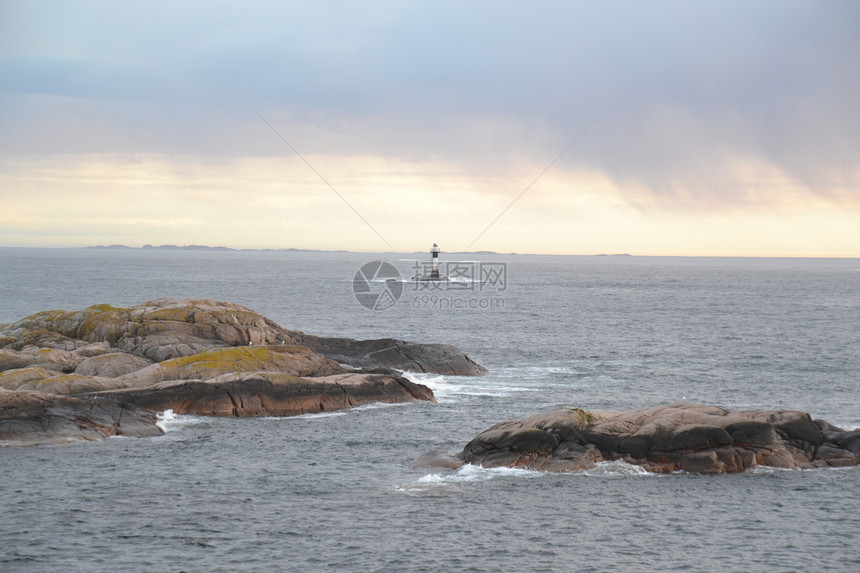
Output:
<path fill-rule="evenodd" d="M 391 367 L 484 372 L 451 346 L 323 339 L 226 302 L 159 299 L 41 312 L 0 325 L 0 389 L 7 391 L 0 409 L 11 436 L 0 433 L 0 445 L 28 443 L 21 438 L 28 432 L 34 443 L 121 434 L 130 422 L 111 425 L 110 415 L 127 420 L 123 412 L 139 408 L 258 416 L 434 400 Z M 56 430 L 62 420 L 78 434 Z"/>

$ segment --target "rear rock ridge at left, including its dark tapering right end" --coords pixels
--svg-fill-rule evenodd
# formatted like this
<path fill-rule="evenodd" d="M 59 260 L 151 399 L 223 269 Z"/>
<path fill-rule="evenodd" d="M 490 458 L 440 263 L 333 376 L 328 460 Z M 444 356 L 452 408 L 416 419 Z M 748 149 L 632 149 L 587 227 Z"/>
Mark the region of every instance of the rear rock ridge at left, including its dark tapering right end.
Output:
<path fill-rule="evenodd" d="M 321 338 L 286 330 L 237 304 L 167 298 L 130 308 L 101 304 L 73 312 L 46 311 L 0 325 L 0 371 L 42 366 L 69 374 L 85 358 L 108 352 L 163 362 L 249 345 L 307 346 L 354 368 L 463 376 L 486 372 L 458 348 L 446 344 Z"/>

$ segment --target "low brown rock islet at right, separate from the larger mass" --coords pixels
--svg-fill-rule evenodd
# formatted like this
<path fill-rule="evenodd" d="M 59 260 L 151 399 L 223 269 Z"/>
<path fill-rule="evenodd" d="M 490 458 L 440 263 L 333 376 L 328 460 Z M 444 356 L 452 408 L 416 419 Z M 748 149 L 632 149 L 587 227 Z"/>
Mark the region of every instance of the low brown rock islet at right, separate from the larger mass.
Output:
<path fill-rule="evenodd" d="M 722 474 L 756 466 L 819 468 L 860 463 L 860 433 L 804 412 L 731 411 L 678 403 L 634 411 L 555 410 L 502 422 L 456 457 L 485 467 L 578 471 L 623 460 L 648 471 Z"/>

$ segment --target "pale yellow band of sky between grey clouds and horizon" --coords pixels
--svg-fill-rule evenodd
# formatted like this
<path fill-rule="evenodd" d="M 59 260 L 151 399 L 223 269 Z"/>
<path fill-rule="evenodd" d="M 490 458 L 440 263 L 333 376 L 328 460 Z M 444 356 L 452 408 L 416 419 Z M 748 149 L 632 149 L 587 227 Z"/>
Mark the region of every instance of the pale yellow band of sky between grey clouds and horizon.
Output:
<path fill-rule="evenodd" d="M 599 172 L 558 169 L 511 205 L 540 166 L 472 175 L 443 162 L 307 159 L 390 246 L 295 156 L 151 154 L 7 156 L 0 245 L 413 252 L 437 242 L 447 251 L 860 257 L 858 202 L 818 197 L 761 163 L 735 166 L 731 204 L 664 201 Z"/>

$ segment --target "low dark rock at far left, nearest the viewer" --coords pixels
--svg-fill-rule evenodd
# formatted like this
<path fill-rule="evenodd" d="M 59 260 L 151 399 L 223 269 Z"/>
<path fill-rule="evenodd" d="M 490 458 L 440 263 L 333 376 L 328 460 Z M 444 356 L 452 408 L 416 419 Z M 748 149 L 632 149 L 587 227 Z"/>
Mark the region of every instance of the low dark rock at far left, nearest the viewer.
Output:
<path fill-rule="evenodd" d="M 0 389 L 0 446 L 162 434 L 155 412 L 109 397 L 74 398 Z"/>

